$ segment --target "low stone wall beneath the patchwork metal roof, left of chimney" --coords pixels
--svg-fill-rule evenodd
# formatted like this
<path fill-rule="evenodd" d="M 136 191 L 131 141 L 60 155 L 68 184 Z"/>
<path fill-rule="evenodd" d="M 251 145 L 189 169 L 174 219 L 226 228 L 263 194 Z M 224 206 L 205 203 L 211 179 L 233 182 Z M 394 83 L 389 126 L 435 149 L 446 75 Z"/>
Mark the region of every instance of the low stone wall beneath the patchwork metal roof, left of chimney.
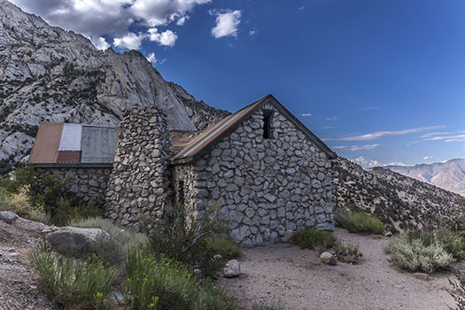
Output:
<path fill-rule="evenodd" d="M 82 201 L 92 201 L 95 205 L 105 205 L 105 192 L 112 173 L 111 167 L 37 167 L 43 174 L 58 174 L 62 180 L 66 176 L 71 190 Z"/>

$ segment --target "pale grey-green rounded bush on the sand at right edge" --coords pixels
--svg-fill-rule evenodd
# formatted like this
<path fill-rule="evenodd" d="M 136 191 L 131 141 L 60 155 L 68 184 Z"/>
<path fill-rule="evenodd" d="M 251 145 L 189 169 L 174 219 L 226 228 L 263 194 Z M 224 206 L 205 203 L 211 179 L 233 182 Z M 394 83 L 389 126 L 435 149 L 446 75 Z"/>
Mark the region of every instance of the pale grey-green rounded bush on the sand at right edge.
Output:
<path fill-rule="evenodd" d="M 426 273 L 447 269 L 454 261 L 437 237 L 431 240 L 422 232 L 405 232 L 392 237 L 384 252 L 390 255 L 395 266 Z"/>

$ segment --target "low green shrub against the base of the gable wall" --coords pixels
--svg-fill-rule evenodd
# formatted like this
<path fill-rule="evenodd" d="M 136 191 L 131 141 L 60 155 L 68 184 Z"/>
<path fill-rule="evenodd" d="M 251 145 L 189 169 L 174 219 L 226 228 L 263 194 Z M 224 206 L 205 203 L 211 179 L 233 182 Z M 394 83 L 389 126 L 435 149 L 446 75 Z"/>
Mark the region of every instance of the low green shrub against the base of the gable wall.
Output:
<path fill-rule="evenodd" d="M 297 244 L 301 249 L 317 249 L 320 252 L 324 252 L 337 245 L 337 236 L 334 236 L 329 231 L 307 227 L 306 229 L 298 230 L 292 237 L 292 242 Z"/>

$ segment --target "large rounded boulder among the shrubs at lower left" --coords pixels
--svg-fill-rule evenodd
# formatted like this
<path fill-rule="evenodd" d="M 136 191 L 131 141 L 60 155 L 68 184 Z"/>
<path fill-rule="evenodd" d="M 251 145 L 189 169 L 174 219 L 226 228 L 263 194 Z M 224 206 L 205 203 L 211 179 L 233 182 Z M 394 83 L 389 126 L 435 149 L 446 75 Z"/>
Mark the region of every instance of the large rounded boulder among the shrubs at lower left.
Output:
<path fill-rule="evenodd" d="M 103 229 L 79 229 L 66 226 L 47 235 L 52 248 L 63 255 L 73 255 L 85 258 L 97 252 L 105 251 L 102 246 L 112 244 L 122 245 Z"/>

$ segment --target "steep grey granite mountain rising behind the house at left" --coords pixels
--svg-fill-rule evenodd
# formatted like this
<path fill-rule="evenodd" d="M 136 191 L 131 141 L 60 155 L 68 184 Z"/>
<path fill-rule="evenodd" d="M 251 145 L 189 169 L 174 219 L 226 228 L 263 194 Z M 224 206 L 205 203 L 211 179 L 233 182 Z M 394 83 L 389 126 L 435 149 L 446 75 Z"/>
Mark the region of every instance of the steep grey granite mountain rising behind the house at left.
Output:
<path fill-rule="evenodd" d="M 117 125 L 123 109 L 136 105 L 165 109 L 170 128 L 190 131 L 229 113 L 165 81 L 136 50 L 97 50 L 0 0 L 1 165 L 27 156 L 41 121 Z M 199 109 L 207 117 L 197 117 Z"/>

